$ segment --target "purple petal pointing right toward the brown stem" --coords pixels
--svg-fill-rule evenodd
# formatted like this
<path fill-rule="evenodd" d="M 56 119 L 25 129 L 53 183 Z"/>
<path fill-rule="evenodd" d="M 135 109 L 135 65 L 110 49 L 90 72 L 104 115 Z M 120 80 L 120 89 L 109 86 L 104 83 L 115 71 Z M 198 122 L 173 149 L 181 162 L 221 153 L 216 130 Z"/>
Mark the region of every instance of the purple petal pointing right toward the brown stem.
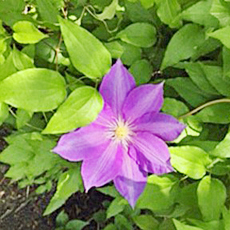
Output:
<path fill-rule="evenodd" d="M 163 113 L 148 113 L 135 121 L 135 131 L 150 132 L 164 141 L 176 139 L 186 126 Z"/>

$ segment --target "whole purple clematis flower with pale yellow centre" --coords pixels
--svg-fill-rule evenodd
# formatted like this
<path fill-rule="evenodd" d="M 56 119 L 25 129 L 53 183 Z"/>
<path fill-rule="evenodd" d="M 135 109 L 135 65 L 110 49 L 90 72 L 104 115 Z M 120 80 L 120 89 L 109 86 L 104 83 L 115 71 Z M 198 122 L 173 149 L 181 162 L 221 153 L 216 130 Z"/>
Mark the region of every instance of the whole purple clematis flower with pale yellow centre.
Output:
<path fill-rule="evenodd" d="M 83 161 L 86 192 L 113 181 L 134 207 L 148 173 L 173 171 L 165 141 L 174 140 L 185 126 L 159 112 L 163 83 L 136 87 L 120 60 L 104 76 L 99 91 L 104 108 L 98 118 L 64 134 L 53 151 L 69 161 Z"/>

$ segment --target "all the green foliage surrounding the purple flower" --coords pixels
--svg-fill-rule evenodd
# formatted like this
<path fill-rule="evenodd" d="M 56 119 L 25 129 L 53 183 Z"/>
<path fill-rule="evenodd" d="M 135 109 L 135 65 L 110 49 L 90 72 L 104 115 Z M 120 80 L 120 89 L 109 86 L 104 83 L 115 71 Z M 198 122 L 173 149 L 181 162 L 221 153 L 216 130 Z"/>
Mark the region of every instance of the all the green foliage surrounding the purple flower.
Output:
<path fill-rule="evenodd" d="M 134 209 L 113 185 L 97 188 L 111 200 L 85 221 L 60 211 L 56 230 L 91 220 L 104 230 L 229 230 L 229 37 L 229 0 L 0 0 L 5 176 L 37 194 L 56 186 L 45 215 L 83 191 L 80 163 L 52 149 L 96 119 L 100 80 L 120 58 L 138 85 L 164 81 L 162 112 L 187 125 L 168 143 L 175 171 L 149 175 Z"/>

